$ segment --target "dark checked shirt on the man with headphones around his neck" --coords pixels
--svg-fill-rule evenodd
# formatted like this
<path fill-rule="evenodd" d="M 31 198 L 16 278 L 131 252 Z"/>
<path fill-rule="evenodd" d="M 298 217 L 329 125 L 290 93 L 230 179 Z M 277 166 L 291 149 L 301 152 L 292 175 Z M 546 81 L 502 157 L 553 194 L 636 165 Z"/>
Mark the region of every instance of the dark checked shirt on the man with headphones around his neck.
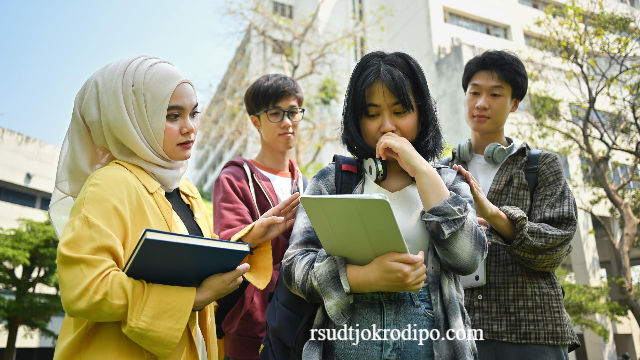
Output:
<path fill-rule="evenodd" d="M 487 199 L 516 228 L 505 243 L 491 226 L 485 286 L 465 289 L 465 307 L 474 329 L 492 340 L 580 347 L 554 270 L 571 248 L 577 227 L 576 202 L 558 157 L 543 151 L 533 201 L 524 176 L 529 146 L 523 143 L 496 173 Z M 467 168 L 455 158 L 454 163 Z M 532 203 L 532 204 L 531 204 Z"/>

